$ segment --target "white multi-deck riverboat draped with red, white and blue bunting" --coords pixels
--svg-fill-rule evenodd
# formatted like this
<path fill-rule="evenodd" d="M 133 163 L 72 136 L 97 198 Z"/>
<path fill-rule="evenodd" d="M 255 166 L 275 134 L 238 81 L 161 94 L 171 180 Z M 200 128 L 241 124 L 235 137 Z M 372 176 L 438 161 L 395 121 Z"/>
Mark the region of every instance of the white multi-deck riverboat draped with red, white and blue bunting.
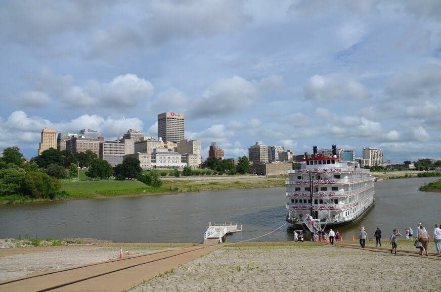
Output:
<path fill-rule="evenodd" d="M 295 229 L 316 233 L 357 221 L 375 202 L 370 170 L 342 161 L 336 145 L 328 156 L 318 155 L 315 146 L 288 174 L 286 221 Z"/>

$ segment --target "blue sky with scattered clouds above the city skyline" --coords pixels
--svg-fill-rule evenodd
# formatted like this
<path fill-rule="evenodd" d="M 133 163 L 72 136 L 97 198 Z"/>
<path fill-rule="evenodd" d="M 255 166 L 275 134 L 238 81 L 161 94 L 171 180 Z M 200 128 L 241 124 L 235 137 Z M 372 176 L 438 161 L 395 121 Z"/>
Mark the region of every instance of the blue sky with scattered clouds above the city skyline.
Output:
<path fill-rule="evenodd" d="M 441 159 L 441 1 L 2 1 L 0 148 L 43 127 L 186 138 L 227 158 L 381 148 Z"/>

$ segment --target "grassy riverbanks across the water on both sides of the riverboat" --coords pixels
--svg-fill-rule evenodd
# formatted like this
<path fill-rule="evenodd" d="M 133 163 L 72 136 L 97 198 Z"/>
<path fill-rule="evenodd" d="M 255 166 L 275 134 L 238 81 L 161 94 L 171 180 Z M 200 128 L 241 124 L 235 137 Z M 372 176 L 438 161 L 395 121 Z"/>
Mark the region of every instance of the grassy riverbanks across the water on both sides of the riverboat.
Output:
<path fill-rule="evenodd" d="M 255 175 L 209 175 L 200 170 L 199 175 L 174 177 L 172 173 L 163 171 L 162 185 L 150 186 L 138 180 L 87 180 L 85 171 L 79 173 L 79 181 L 60 179 L 61 192 L 55 199 L 34 199 L 20 195 L 0 197 L 0 204 L 22 204 L 33 202 L 53 202 L 80 199 L 105 199 L 115 197 L 158 196 L 185 192 L 218 191 L 227 189 L 251 189 L 267 187 L 283 187 L 286 176 L 266 177 Z M 383 179 L 434 177 L 441 172 L 420 171 L 383 171 L 371 172 L 373 177 Z M 441 191 L 441 180 L 420 187 L 422 191 Z"/>

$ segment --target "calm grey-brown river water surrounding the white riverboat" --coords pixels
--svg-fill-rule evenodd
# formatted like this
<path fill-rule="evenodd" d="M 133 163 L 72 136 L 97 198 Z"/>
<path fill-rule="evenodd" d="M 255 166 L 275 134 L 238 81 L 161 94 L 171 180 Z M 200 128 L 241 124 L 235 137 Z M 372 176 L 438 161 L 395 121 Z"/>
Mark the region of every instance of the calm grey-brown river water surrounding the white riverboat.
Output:
<path fill-rule="evenodd" d="M 408 178 L 375 183 L 375 206 L 364 218 L 338 228 L 348 239 L 365 226 L 385 235 L 404 232 L 418 222 L 441 221 L 441 193 L 418 187 L 437 178 Z M 0 238 L 91 237 L 118 242 L 202 242 L 208 222 L 232 221 L 243 231 L 227 241 L 266 234 L 285 223 L 285 188 L 223 190 L 163 196 L 77 200 L 0 206 Z M 357 236 L 356 236 L 357 238 Z M 257 241 L 292 240 L 289 225 Z"/>

